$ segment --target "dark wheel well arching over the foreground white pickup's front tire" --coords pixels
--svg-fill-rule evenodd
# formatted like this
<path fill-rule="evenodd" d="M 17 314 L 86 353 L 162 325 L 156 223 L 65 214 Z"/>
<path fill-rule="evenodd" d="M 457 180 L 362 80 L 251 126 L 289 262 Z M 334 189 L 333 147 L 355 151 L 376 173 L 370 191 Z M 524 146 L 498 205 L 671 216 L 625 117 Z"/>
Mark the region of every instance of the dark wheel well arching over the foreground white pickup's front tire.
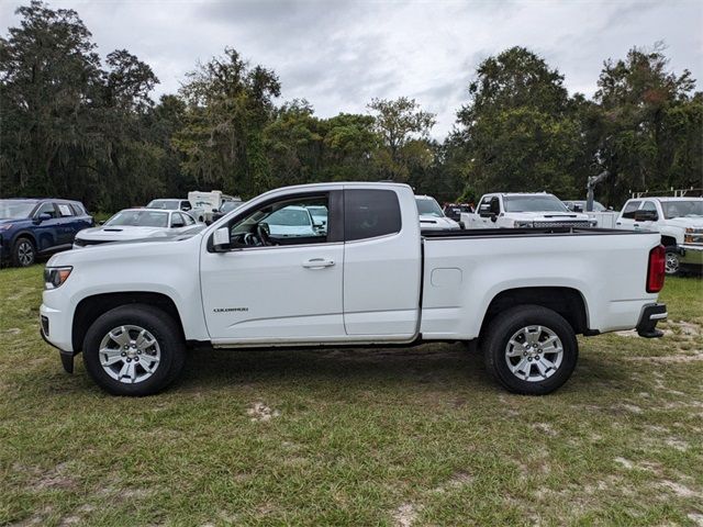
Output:
<path fill-rule="evenodd" d="M 183 325 L 178 309 L 171 299 L 161 293 L 124 292 L 104 293 L 81 300 L 74 313 L 71 343 L 74 351 L 82 350 L 83 339 L 88 328 L 98 317 L 110 310 L 127 304 L 146 304 L 167 313 L 178 325 L 183 337 Z"/>

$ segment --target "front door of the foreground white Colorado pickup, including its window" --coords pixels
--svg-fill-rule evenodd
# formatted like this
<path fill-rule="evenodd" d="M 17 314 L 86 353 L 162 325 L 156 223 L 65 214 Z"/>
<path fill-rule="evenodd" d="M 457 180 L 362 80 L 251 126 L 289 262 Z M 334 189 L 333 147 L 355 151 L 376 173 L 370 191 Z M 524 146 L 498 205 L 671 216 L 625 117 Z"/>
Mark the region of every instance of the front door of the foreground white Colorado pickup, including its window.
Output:
<path fill-rule="evenodd" d="M 205 237 L 201 288 L 213 344 L 312 344 L 345 335 L 341 203 L 342 191 L 288 194 L 235 215 L 227 224 L 231 250 L 215 253 L 213 235 Z M 330 211 L 326 231 L 302 228 L 306 206 Z"/>

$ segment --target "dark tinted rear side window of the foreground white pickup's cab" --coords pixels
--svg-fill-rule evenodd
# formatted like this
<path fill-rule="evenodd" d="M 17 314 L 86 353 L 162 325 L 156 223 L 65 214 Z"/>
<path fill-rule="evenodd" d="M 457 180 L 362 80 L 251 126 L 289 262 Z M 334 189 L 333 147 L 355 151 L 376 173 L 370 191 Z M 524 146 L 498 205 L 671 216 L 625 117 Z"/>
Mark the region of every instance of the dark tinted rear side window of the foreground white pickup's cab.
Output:
<path fill-rule="evenodd" d="M 392 190 L 344 191 L 344 238 L 373 238 L 399 233 L 400 204 Z"/>

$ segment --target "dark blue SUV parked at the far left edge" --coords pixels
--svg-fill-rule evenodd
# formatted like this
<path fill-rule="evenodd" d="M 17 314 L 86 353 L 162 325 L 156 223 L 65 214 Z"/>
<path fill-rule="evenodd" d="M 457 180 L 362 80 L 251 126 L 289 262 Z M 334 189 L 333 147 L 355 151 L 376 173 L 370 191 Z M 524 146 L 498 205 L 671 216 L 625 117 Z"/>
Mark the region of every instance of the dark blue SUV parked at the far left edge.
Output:
<path fill-rule="evenodd" d="M 31 266 L 37 256 L 70 249 L 76 233 L 92 226 L 78 201 L 0 200 L 0 264 Z"/>

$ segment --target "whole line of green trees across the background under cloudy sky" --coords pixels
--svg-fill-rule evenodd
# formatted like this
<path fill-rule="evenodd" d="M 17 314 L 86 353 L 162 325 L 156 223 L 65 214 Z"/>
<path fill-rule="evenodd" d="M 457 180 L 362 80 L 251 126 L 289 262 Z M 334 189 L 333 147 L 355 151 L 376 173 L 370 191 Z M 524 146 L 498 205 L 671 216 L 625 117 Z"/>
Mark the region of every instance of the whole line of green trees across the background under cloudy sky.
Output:
<path fill-rule="evenodd" d="M 0 37 L 0 195 L 57 195 L 93 211 L 189 190 L 250 198 L 316 181 L 408 182 L 440 201 L 547 190 L 582 199 L 607 170 L 600 201 L 631 190 L 701 187 L 703 93 L 666 48 L 607 59 L 592 99 L 570 96 L 540 56 L 512 47 L 483 60 L 446 139 L 410 98 L 365 114 L 316 116 L 277 103 L 281 82 L 234 48 L 199 64 L 154 101 L 153 69 L 126 49 L 97 53 L 78 13 L 41 1 Z"/>

